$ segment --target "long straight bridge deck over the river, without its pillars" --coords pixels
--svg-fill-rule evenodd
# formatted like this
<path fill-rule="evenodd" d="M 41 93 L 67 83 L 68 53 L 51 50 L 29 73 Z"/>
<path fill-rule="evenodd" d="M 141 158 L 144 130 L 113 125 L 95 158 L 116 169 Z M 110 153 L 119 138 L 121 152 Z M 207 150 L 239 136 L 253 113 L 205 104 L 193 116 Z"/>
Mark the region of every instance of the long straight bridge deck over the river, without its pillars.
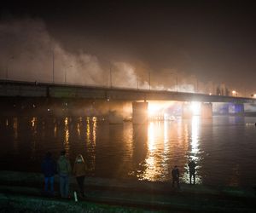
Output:
<path fill-rule="evenodd" d="M 61 83 L 0 80 L 0 97 L 52 97 L 120 101 L 201 101 L 256 103 L 253 98 L 173 92 L 154 89 L 107 88 Z"/>

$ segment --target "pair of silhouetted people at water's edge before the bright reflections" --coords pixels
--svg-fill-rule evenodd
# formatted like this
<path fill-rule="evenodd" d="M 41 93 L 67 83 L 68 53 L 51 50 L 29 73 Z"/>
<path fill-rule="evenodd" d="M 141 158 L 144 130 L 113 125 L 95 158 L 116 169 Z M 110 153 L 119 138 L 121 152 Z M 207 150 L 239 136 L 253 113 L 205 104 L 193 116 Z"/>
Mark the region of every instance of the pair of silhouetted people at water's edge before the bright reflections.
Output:
<path fill-rule="evenodd" d="M 193 160 L 189 161 L 189 183 L 192 184 L 192 177 L 193 177 L 193 184 L 195 184 L 195 162 Z M 179 188 L 179 170 L 177 169 L 177 165 L 174 166 L 172 169 L 172 187 L 174 187 L 175 183 L 177 183 L 177 187 Z"/>

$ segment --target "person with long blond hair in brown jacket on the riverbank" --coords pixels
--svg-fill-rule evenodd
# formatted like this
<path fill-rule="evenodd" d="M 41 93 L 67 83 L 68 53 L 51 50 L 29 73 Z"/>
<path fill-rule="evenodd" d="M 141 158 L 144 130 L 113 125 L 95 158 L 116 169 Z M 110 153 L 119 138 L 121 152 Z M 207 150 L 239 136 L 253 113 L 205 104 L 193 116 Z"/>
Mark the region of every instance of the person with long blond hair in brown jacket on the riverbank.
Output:
<path fill-rule="evenodd" d="M 84 177 L 86 174 L 86 164 L 84 163 L 84 158 L 81 154 L 77 156 L 73 165 L 73 174 L 79 184 L 79 190 L 81 196 L 84 197 Z"/>

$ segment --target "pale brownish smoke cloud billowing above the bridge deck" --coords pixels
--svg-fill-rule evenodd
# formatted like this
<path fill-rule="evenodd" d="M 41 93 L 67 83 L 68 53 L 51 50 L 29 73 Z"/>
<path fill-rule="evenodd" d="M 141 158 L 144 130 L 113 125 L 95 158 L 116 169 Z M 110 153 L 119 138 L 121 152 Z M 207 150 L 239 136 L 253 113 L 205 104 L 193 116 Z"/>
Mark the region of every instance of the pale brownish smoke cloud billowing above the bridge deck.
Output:
<path fill-rule="evenodd" d="M 85 50 L 70 53 L 39 19 L 0 22 L 0 47 L 1 79 L 202 93 L 214 89 L 213 83 L 200 83 L 175 69 L 153 72 L 125 61 L 102 62 Z"/>

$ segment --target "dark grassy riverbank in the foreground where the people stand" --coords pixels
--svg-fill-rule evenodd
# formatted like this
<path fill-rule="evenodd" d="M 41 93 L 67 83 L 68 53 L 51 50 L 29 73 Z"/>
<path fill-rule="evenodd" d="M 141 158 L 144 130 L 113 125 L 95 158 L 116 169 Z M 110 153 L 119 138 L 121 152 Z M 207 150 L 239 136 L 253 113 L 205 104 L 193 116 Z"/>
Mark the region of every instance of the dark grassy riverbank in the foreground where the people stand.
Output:
<path fill-rule="evenodd" d="M 86 197 L 79 202 L 59 198 L 44 198 L 44 178 L 38 173 L 0 171 L 0 204 L 6 212 L 11 208 L 27 208 L 33 212 L 255 212 L 253 188 L 181 185 L 172 188 L 170 182 L 129 181 L 86 177 Z M 55 178 L 58 189 L 58 178 Z M 71 178 L 71 192 L 77 190 Z M 20 203 L 20 204 L 19 204 Z M 9 205 L 12 204 L 13 207 Z M 55 207 L 54 207 L 55 206 Z M 37 208 L 37 209 L 35 209 Z M 29 211 L 31 210 L 31 211 Z"/>

